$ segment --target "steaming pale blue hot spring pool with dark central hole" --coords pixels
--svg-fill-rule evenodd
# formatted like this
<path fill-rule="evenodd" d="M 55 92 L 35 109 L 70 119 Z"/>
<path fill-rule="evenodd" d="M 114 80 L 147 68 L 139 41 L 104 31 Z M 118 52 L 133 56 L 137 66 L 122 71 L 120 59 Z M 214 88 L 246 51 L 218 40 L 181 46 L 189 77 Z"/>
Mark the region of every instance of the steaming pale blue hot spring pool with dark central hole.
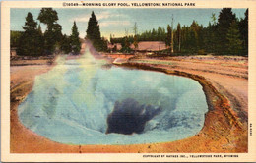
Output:
<path fill-rule="evenodd" d="M 67 144 L 139 144 L 196 135 L 208 111 L 202 86 L 163 73 L 102 69 L 87 51 L 58 58 L 19 105 L 33 132 Z"/>

